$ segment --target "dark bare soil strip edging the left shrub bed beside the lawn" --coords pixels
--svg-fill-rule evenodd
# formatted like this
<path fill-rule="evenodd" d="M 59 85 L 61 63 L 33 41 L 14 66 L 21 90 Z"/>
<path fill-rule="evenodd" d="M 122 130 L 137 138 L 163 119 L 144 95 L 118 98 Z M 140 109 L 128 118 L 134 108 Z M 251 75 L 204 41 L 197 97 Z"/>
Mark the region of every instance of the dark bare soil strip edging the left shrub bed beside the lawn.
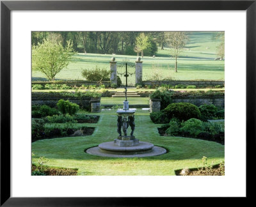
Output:
<path fill-rule="evenodd" d="M 83 127 L 81 131 L 83 131 L 83 135 L 76 135 L 76 136 L 88 136 L 92 135 L 95 130 L 95 127 Z M 49 135 L 45 136 L 42 133 L 41 137 L 32 137 L 32 142 L 38 141 L 40 139 L 53 139 L 53 138 L 61 138 L 61 137 L 72 137 L 74 136 L 74 133 L 77 131 L 77 129 L 74 128 L 68 128 L 67 135 L 61 135 L 61 130 L 59 128 L 54 128 L 51 130 Z"/>

